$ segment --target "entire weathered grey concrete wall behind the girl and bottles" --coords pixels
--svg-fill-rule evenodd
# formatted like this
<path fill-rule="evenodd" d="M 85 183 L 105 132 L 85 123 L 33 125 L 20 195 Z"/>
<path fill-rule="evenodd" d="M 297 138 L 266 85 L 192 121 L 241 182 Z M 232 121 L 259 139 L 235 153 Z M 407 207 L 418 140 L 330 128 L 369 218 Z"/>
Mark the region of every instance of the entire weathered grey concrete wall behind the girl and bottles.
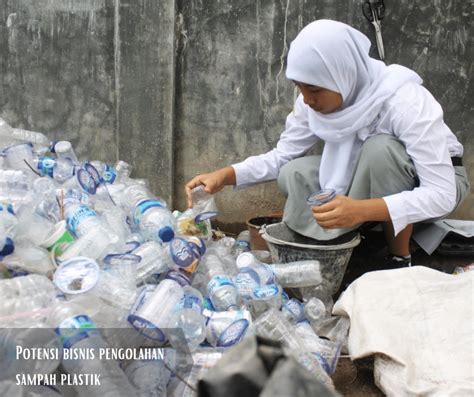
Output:
<path fill-rule="evenodd" d="M 131 162 L 182 209 L 192 176 L 277 142 L 295 97 L 284 68 L 299 29 L 332 18 L 375 43 L 361 3 L 0 0 L 0 115 L 70 139 L 80 155 Z M 470 4 L 386 3 L 386 61 L 424 78 L 465 146 L 474 186 Z M 471 193 L 457 215 L 474 219 L 473 202 Z M 227 188 L 218 204 L 223 223 L 241 223 L 281 209 L 283 197 L 272 182 Z"/>

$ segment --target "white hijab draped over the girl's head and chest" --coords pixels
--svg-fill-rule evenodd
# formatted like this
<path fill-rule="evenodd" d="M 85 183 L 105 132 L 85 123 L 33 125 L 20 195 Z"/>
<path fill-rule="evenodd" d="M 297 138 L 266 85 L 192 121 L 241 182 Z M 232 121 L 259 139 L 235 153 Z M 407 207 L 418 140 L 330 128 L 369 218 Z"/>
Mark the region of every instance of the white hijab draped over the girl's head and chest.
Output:
<path fill-rule="evenodd" d="M 291 43 L 286 77 L 338 92 L 343 104 L 322 114 L 308 106 L 310 129 L 325 141 L 319 181 L 322 189 L 344 193 L 359 149 L 375 133 L 385 100 L 408 82 L 423 81 L 400 65 L 369 57 L 370 41 L 358 30 L 331 20 L 307 25 Z"/>

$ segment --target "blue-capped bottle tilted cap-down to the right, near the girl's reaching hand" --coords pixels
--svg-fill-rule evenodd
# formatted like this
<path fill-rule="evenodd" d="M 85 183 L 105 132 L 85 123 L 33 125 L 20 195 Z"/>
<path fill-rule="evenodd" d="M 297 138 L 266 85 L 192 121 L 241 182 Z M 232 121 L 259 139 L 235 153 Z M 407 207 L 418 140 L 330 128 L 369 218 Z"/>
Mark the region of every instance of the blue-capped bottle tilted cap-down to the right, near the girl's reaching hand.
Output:
<path fill-rule="evenodd" d="M 124 192 L 132 210 L 133 221 L 148 240 L 168 242 L 174 237 L 175 218 L 163 200 L 154 198 L 141 185 L 132 185 Z"/>

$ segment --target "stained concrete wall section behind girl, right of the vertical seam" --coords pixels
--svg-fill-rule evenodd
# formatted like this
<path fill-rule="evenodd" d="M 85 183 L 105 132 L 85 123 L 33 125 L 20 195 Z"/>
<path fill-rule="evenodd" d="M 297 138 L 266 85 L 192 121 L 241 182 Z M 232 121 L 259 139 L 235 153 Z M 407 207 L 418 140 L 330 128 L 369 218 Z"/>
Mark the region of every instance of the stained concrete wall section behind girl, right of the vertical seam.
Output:
<path fill-rule="evenodd" d="M 386 2 L 387 63 L 415 69 L 445 110 L 465 146 L 474 186 L 472 139 L 472 11 L 467 2 Z M 330 18 L 366 33 L 375 43 L 361 1 L 182 1 L 177 69 L 176 189 L 193 175 L 271 149 L 294 100 L 284 77 L 288 46 L 307 23 Z M 471 45 L 469 45 L 471 44 Z M 378 57 L 374 44 L 371 54 Z M 469 136 L 471 139 L 469 140 Z M 180 194 L 181 193 L 181 194 Z M 274 182 L 218 196 L 224 222 L 242 222 L 282 208 Z M 474 219 L 471 194 L 458 216 Z"/>

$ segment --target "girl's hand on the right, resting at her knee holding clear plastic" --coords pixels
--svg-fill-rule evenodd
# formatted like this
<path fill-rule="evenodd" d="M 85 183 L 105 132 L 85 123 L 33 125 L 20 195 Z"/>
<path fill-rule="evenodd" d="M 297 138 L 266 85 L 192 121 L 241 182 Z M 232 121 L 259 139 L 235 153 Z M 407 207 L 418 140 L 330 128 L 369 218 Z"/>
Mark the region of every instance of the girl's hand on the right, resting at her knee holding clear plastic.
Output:
<path fill-rule="evenodd" d="M 364 222 L 360 200 L 337 195 L 329 203 L 312 207 L 316 222 L 326 229 L 347 228 Z"/>

